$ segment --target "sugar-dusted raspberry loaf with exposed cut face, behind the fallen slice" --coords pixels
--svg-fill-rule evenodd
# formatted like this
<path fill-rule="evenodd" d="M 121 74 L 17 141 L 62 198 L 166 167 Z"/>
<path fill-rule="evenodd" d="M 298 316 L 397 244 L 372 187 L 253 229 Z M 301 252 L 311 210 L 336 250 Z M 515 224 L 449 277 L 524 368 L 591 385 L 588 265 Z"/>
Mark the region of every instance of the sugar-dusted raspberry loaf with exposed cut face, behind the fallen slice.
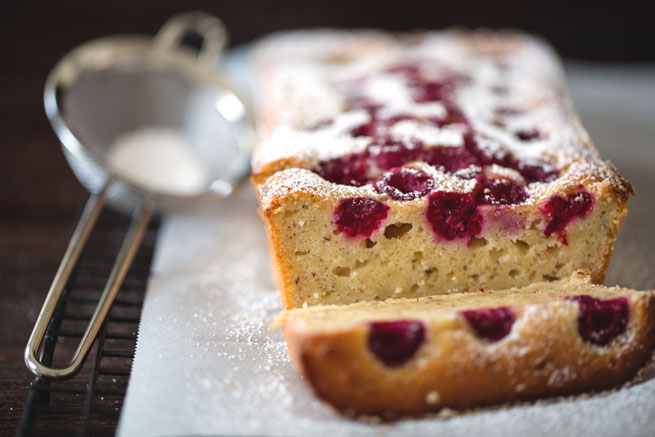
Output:
<path fill-rule="evenodd" d="M 541 40 L 296 31 L 255 66 L 252 180 L 285 308 L 603 281 L 632 187 Z"/>

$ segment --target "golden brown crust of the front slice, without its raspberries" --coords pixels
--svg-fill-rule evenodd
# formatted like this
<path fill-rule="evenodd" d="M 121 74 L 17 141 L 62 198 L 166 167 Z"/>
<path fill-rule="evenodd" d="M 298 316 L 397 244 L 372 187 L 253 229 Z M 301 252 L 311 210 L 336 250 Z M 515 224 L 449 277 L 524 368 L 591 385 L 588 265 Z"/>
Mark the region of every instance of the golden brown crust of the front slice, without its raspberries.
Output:
<path fill-rule="evenodd" d="M 393 418 L 446 407 L 470 409 L 601 390 L 629 380 L 653 354 L 655 292 L 562 282 L 554 284 L 565 287 L 564 295 L 626 297 L 626 332 L 606 346 L 584 341 L 577 329 L 577 303 L 559 298 L 514 305 L 512 332 L 496 343 L 476 337 L 462 317 L 423 319 L 425 344 L 397 367 L 386 366 L 369 351 L 369 323 L 313 327 L 294 316 L 305 310 L 294 310 L 284 316 L 285 337 L 293 362 L 317 396 L 354 415 Z M 549 287 L 553 284 L 535 284 L 527 292 Z M 479 300 L 493 306 L 493 295 Z"/>

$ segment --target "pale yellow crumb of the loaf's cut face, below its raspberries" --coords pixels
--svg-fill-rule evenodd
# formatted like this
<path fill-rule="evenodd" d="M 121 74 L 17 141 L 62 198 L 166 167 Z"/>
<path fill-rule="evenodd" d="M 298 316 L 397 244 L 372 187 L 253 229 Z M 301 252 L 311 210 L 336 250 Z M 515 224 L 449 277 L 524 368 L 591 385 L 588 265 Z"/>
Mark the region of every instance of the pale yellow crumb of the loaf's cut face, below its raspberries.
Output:
<path fill-rule="evenodd" d="M 567 226 L 566 244 L 546 238 L 542 214 L 528 207 L 491 209 L 485 231 L 468 244 L 437 240 L 422 209 L 409 205 L 394 209 L 368 238 L 340 233 L 333 206 L 316 199 L 287 202 L 269 226 L 285 306 L 298 308 L 520 287 L 583 268 L 600 283 L 625 214 L 621 203 L 597 202 Z M 507 229 L 506 222 L 522 227 Z"/>

